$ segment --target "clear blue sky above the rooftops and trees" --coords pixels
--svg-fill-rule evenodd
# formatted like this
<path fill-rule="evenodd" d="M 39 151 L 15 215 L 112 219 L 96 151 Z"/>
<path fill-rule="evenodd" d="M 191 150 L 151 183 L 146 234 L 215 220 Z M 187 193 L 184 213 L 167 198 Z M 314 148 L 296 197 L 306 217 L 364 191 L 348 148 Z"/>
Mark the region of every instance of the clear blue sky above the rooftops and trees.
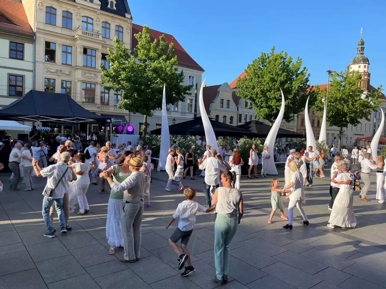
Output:
<path fill-rule="evenodd" d="M 310 84 L 327 83 L 328 66 L 343 70 L 356 55 L 361 27 L 371 84 L 386 85 L 384 0 L 128 2 L 135 24 L 174 35 L 207 85 L 230 83 L 273 45 L 303 59 Z"/>

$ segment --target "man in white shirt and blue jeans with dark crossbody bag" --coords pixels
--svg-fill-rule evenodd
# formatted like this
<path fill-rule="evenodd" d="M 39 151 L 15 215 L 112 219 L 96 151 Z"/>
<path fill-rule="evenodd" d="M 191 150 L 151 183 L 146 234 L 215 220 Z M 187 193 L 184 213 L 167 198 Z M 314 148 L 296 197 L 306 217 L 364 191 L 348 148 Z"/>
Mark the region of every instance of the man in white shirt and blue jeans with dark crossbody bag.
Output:
<path fill-rule="evenodd" d="M 36 159 L 32 160 L 32 165 L 34 166 L 34 171 L 36 176 L 47 177 L 46 188 L 52 189 L 52 194 L 50 197 L 43 198 L 43 219 L 46 225 L 47 232 L 44 234 L 44 237 L 54 238 L 54 227 L 52 226 L 52 221 L 49 216 L 49 210 L 52 204 L 55 202 L 55 209 L 58 213 L 59 224 L 61 228 L 61 233 L 66 233 L 66 220 L 64 219 L 63 211 L 63 197 L 64 192 L 67 189 L 68 181 L 73 180 L 73 173 L 71 168 L 67 167 L 67 163 L 70 159 L 70 154 L 68 152 L 61 153 L 60 160 L 54 165 L 50 165 L 47 168 L 40 168 L 38 161 Z M 63 176 L 63 177 L 62 177 Z M 55 188 L 56 187 L 56 188 Z M 55 190 L 53 190 L 55 188 Z"/>

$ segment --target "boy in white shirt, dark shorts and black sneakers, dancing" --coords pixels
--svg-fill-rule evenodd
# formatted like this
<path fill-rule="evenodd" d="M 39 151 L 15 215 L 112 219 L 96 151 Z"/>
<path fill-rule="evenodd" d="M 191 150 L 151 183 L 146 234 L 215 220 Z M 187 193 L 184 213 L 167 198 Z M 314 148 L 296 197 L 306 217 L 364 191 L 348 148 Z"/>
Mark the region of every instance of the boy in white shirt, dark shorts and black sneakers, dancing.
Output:
<path fill-rule="evenodd" d="M 170 218 L 168 225 L 166 225 L 166 229 L 168 229 L 171 223 L 173 223 L 176 218 L 179 218 L 178 227 L 170 236 L 169 245 L 179 256 L 178 270 L 181 270 L 184 267 L 185 262 L 187 262 L 188 264 L 188 266 L 185 267 L 185 271 L 181 273 L 182 277 L 186 277 L 195 271 L 190 261 L 188 241 L 193 232 L 194 224 L 196 223 L 196 213 L 209 213 L 215 209 L 215 207 L 205 208 L 199 203 L 193 201 L 193 199 L 196 197 L 196 191 L 193 188 L 186 188 L 184 190 L 184 195 L 186 197 L 186 201 L 183 201 L 178 204 L 176 212 L 174 213 L 173 217 Z M 180 239 L 181 248 L 179 248 L 176 244 Z"/>

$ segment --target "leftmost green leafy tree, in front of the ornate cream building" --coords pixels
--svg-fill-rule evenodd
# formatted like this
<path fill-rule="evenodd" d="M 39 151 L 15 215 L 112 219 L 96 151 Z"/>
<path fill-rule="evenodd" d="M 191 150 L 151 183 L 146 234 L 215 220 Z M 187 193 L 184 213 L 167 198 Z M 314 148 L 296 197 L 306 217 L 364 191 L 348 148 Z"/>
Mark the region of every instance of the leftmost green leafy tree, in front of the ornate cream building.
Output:
<path fill-rule="evenodd" d="M 166 84 L 166 104 L 185 100 L 193 86 L 182 85 L 183 71 L 178 72 L 178 61 L 173 43 L 164 40 L 164 35 L 151 42 L 149 27 L 135 34 L 138 40 L 133 53 L 114 39 L 114 49 L 108 49 L 110 68 L 101 66 L 100 83 L 107 90 L 122 92 L 119 108 L 144 115 L 144 135 L 147 133 L 147 116 L 162 108 L 163 87 Z"/>

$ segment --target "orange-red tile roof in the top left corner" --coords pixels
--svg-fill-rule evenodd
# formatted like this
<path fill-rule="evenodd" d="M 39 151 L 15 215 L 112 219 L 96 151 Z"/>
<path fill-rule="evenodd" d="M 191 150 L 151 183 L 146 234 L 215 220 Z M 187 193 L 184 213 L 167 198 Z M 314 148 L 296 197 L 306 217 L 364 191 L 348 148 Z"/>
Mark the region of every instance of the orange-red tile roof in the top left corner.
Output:
<path fill-rule="evenodd" d="M 25 15 L 24 7 L 21 2 L 1 0 L 0 14 L 15 24 L 12 25 L 8 21 L 7 23 L 1 22 L 0 29 L 31 36 L 35 35 L 29 25 L 27 15 Z"/>

